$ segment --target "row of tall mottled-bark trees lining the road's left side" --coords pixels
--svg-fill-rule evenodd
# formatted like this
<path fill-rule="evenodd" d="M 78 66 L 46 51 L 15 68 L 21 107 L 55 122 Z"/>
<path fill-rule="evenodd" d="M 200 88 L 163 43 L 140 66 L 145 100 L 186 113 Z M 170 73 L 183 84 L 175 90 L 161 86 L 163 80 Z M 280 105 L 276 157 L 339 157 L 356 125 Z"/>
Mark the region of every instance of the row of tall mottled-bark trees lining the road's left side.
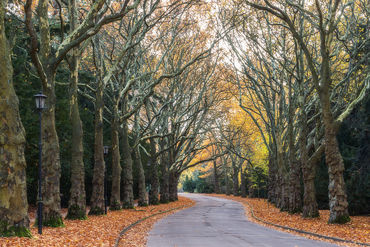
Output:
<path fill-rule="evenodd" d="M 26 175 L 26 162 L 30 171 L 38 161 L 25 153 L 35 153 L 31 137 L 38 130 L 14 89 L 29 106 L 31 84 L 48 96 L 41 128 L 44 226 L 63 226 L 65 180 L 68 219 L 87 219 L 86 185 L 89 214 L 105 213 L 104 142 L 111 147 L 110 210 L 134 206 L 133 162 L 137 199 L 147 205 L 143 155 L 151 162 L 150 203 L 176 200 L 181 172 L 204 162 L 191 161 L 210 145 L 203 142 L 210 114 L 223 99 L 208 6 L 141 0 L 36 4 L 26 1 L 23 18 L 20 3 L 1 2 L 1 58 L 7 64 L 1 65 L 1 236 L 29 234 L 26 178 L 28 185 L 37 181 Z M 16 73 L 12 61 L 21 63 L 13 63 Z M 31 130 L 27 140 L 20 110 Z M 88 184 L 85 172 L 92 177 Z"/>

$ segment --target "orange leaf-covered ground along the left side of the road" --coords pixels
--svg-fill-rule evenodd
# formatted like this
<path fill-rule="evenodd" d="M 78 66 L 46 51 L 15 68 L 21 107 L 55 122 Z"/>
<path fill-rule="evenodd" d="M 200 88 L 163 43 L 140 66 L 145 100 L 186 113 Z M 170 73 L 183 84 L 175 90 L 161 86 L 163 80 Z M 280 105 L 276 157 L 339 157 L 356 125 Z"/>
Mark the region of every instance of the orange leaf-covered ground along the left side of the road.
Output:
<path fill-rule="evenodd" d="M 33 222 L 31 222 L 33 238 L 0 238 L 0 246 L 145 246 L 147 234 L 154 222 L 178 210 L 194 205 L 195 203 L 191 199 L 179 196 L 179 201 L 169 204 L 136 206 L 135 209 L 108 211 L 107 216 L 88 216 L 86 221 L 65 219 L 65 227 L 43 227 L 41 235 L 38 234 L 37 226 L 33 227 Z M 67 210 L 62 209 L 62 214 L 65 215 Z M 30 220 L 34 221 L 36 208 L 31 207 L 28 211 L 30 212 Z M 145 219 L 147 217 L 149 218 Z M 140 220 L 143 221 L 122 233 L 122 230 Z"/>

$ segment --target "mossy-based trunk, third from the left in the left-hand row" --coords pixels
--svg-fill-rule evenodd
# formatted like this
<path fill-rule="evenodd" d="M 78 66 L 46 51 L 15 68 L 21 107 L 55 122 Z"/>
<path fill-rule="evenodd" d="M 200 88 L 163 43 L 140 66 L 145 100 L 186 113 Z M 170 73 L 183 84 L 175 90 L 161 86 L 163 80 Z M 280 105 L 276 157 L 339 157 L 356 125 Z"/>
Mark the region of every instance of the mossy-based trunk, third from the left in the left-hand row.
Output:
<path fill-rule="evenodd" d="M 83 164 L 83 122 L 78 110 L 78 48 L 72 50 L 70 58 L 70 84 L 68 100 L 70 125 L 72 126 L 72 148 L 70 162 L 70 200 L 66 219 L 87 219 L 85 194 L 85 169 Z"/>

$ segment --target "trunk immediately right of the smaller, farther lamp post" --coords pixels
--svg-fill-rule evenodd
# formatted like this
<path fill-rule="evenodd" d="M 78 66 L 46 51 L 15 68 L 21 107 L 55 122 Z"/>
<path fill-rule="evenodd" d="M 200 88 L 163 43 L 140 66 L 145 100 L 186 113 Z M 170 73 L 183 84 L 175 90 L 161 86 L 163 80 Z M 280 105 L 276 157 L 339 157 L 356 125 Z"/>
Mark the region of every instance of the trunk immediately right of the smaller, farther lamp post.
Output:
<path fill-rule="evenodd" d="M 112 194 L 110 196 L 110 210 L 121 209 L 121 163 L 120 163 L 120 125 L 118 122 L 118 104 L 113 107 L 110 135 L 112 139 Z"/>

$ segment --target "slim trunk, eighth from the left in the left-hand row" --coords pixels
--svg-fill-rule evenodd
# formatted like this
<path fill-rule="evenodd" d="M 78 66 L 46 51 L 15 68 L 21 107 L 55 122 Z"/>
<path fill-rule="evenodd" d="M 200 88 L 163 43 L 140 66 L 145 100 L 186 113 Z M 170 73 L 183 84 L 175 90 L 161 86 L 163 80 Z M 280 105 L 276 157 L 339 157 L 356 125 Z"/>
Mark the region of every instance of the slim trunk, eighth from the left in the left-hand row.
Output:
<path fill-rule="evenodd" d="M 158 178 L 158 162 L 156 141 L 150 139 L 150 204 L 159 204 L 159 178 Z"/>

